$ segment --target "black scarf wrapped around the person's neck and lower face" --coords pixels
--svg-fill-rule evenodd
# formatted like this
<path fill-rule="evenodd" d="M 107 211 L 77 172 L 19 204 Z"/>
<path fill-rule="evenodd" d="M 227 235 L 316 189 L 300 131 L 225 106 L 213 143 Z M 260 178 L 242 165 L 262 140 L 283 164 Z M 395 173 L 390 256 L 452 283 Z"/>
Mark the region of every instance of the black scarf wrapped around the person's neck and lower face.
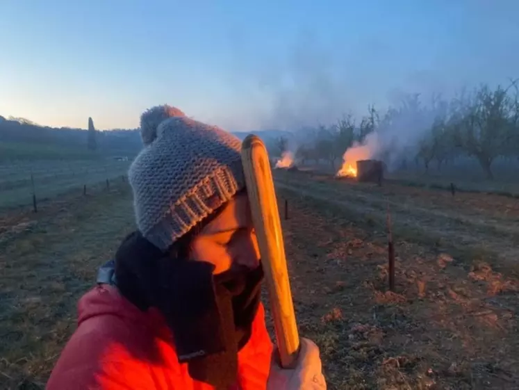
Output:
<path fill-rule="evenodd" d="M 166 256 L 139 232 L 126 237 L 115 255 L 122 295 L 143 311 L 161 311 L 193 379 L 226 389 L 236 383 L 238 351 L 251 335 L 263 269 L 215 276 L 213 270 L 211 263 Z"/>

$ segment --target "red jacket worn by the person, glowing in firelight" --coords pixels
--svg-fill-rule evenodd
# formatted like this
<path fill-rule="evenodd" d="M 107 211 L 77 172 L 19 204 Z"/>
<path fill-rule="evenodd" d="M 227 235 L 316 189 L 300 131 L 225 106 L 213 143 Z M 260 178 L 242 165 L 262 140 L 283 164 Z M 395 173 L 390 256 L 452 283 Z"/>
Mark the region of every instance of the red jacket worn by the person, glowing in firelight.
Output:
<path fill-rule="evenodd" d="M 113 286 L 97 286 L 78 304 L 78 328 L 53 369 L 47 390 L 209 390 L 179 364 L 172 334 L 155 309 L 140 311 Z M 260 305 L 249 342 L 238 353 L 238 383 L 265 390 L 272 343 Z"/>

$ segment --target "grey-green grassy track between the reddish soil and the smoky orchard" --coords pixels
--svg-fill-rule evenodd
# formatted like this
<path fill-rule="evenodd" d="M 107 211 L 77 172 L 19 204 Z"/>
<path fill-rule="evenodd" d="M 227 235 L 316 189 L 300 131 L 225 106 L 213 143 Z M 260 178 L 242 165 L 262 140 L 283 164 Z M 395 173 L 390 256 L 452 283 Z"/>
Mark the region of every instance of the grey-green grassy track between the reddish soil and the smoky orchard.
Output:
<path fill-rule="evenodd" d="M 372 220 L 380 226 L 384 225 L 390 206 L 395 228 L 404 236 L 413 236 L 414 241 L 435 247 L 472 252 L 471 255 L 491 254 L 499 259 L 495 266 L 509 268 L 519 275 L 519 213 L 516 213 L 519 200 L 472 193 L 460 193 L 452 198 L 438 190 L 413 188 L 409 191 L 395 185 L 379 188 L 313 179 L 308 174 L 278 177 L 277 187 L 334 204 L 355 218 Z M 477 202 L 477 197 L 486 202 Z M 479 204 L 477 211 L 467 209 L 466 204 L 476 203 Z"/>

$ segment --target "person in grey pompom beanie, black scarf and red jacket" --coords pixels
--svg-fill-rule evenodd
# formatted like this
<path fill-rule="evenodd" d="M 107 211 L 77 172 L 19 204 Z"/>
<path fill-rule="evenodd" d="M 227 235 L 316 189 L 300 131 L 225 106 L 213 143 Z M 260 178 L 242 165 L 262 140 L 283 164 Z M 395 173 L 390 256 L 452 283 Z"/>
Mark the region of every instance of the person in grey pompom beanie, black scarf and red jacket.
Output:
<path fill-rule="evenodd" d="M 282 369 L 236 136 L 172 106 L 141 115 L 138 229 L 78 304 L 48 390 L 326 389 L 318 347 Z"/>

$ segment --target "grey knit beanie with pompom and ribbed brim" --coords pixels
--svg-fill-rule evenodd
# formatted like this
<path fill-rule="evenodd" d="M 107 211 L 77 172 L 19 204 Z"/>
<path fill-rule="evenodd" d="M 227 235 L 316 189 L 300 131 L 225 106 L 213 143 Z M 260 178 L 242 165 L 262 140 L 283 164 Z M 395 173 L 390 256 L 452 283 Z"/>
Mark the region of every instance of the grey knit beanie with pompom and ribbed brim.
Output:
<path fill-rule="evenodd" d="M 241 142 L 167 105 L 145 111 L 140 131 L 145 147 L 129 170 L 135 217 L 165 251 L 245 188 Z"/>

